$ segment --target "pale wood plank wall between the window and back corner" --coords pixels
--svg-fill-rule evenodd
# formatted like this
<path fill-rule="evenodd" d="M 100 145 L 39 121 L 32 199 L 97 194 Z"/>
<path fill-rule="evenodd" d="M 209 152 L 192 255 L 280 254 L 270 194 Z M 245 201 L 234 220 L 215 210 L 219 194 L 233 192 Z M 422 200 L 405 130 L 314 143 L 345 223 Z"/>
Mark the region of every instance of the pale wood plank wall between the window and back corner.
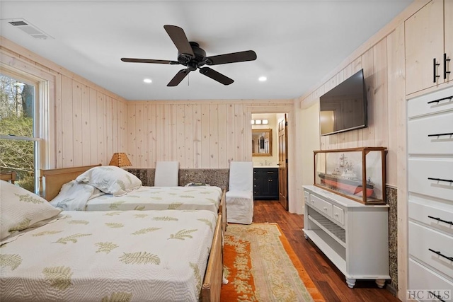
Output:
<path fill-rule="evenodd" d="M 55 112 L 57 167 L 108 165 L 113 153 L 126 149 L 127 103 L 68 76 L 58 79 L 62 95 L 61 101 L 57 98 L 61 110 Z"/>

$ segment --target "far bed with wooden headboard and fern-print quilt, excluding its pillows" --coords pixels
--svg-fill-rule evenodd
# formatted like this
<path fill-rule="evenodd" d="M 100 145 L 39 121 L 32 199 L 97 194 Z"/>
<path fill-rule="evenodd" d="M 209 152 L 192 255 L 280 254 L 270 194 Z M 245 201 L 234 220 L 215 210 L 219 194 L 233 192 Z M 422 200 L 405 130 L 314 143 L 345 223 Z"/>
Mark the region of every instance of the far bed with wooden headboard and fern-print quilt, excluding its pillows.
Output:
<path fill-rule="evenodd" d="M 147 187 L 141 186 L 140 183 L 138 188 L 135 188 L 131 192 L 127 192 L 127 194 L 121 194 L 120 196 L 93 192 L 93 194 L 85 194 L 85 197 L 82 197 L 81 194 L 77 194 L 77 198 L 74 198 L 74 196 L 70 196 L 70 194 L 61 194 L 65 185 L 77 185 L 74 180 L 79 180 L 79 178 L 83 177 L 83 175 L 85 175 L 88 170 L 92 170 L 92 168 L 103 169 L 106 167 L 101 167 L 101 165 L 88 165 L 41 170 L 40 187 L 42 188 L 42 196 L 54 206 L 62 207 L 63 209 L 77 209 L 82 211 L 206 209 L 222 214 L 222 228 L 224 231 L 226 230 L 225 190 L 222 190 L 219 187 Z M 122 171 L 124 172 L 124 170 Z M 130 175 L 131 177 L 136 178 L 134 175 Z M 120 178 L 120 176 L 118 176 L 118 178 Z M 130 180 L 124 180 L 124 182 L 128 181 Z M 71 202 L 68 202 L 68 199 L 72 199 Z"/>

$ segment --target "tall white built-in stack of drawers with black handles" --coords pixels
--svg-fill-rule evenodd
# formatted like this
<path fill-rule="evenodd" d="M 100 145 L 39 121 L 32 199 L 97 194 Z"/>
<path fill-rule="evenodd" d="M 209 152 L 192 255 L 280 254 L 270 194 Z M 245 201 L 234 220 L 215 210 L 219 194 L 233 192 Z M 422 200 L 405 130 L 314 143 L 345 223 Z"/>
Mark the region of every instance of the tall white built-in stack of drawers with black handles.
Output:
<path fill-rule="evenodd" d="M 408 100 L 408 298 L 453 301 L 453 87 Z"/>

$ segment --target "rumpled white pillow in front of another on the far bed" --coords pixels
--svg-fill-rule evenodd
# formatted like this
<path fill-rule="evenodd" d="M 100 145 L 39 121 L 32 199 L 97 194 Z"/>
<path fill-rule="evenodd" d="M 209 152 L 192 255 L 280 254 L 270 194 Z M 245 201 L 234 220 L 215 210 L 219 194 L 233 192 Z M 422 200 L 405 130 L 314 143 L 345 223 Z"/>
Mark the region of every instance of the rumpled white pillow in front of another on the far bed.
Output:
<path fill-rule="evenodd" d="M 88 200 L 103 194 L 105 193 L 101 192 L 97 187 L 71 180 L 62 186 L 58 195 L 49 203 L 64 211 L 84 211 Z"/>

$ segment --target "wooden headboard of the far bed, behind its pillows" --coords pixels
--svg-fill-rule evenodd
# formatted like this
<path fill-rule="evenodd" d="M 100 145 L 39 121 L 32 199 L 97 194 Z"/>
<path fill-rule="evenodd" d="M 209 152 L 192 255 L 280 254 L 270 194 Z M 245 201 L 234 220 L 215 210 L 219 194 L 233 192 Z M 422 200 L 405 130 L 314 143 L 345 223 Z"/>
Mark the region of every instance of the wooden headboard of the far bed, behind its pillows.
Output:
<path fill-rule="evenodd" d="M 75 180 L 81 173 L 99 165 L 101 163 L 81 167 L 40 170 L 40 195 L 47 201 L 54 199 L 65 183 Z"/>

